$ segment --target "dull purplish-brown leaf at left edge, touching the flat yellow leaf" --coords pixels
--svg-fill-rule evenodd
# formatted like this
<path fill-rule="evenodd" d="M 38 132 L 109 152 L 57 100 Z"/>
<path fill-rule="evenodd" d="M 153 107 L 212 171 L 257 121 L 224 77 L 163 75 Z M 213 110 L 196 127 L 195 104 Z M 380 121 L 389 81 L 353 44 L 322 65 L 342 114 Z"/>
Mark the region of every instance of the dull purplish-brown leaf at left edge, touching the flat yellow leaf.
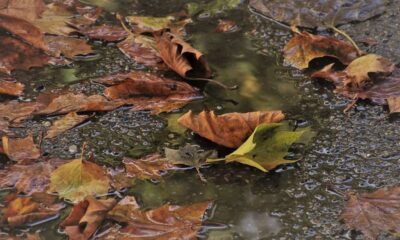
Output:
<path fill-rule="evenodd" d="M 0 188 L 15 187 L 18 193 L 25 195 L 45 192 L 50 183 L 50 174 L 63 163 L 64 160 L 49 159 L 28 165 L 7 166 L 0 170 Z"/>

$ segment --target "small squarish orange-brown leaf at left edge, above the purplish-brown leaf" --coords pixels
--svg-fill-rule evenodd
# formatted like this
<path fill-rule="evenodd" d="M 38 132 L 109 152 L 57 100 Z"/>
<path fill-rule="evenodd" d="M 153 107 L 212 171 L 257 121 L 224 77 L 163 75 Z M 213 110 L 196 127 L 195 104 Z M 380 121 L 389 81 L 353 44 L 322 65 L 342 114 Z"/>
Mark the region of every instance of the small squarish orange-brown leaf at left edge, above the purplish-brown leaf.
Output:
<path fill-rule="evenodd" d="M 13 161 L 34 160 L 41 156 L 40 149 L 33 142 L 32 135 L 25 138 L 3 136 L 1 140 L 5 154 Z"/>

